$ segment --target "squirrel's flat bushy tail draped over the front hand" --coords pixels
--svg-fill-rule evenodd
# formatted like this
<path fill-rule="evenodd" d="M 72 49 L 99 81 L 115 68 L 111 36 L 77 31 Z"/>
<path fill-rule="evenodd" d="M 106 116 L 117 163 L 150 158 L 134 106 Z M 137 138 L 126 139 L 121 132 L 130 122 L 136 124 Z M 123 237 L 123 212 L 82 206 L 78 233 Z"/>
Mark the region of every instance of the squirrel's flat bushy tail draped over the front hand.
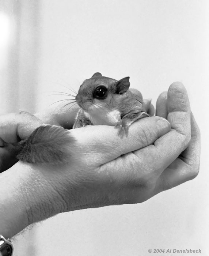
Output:
<path fill-rule="evenodd" d="M 55 125 L 43 125 L 17 146 L 16 158 L 28 163 L 59 165 L 69 162 L 72 142 L 69 130 Z"/>

